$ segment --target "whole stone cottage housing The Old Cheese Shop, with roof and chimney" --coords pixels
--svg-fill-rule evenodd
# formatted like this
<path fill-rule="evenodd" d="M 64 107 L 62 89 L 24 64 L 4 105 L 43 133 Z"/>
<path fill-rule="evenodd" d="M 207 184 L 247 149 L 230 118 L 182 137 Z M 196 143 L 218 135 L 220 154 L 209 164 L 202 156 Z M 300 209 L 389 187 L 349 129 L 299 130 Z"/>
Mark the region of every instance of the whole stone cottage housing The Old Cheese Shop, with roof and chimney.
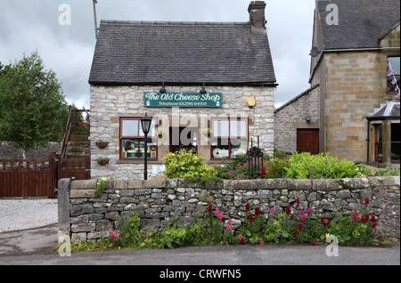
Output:
<path fill-rule="evenodd" d="M 183 148 L 219 166 L 259 137 L 272 155 L 277 84 L 265 8 L 250 2 L 249 22 L 102 20 L 89 77 L 92 177 L 143 178 L 145 114 L 150 177 Z"/>

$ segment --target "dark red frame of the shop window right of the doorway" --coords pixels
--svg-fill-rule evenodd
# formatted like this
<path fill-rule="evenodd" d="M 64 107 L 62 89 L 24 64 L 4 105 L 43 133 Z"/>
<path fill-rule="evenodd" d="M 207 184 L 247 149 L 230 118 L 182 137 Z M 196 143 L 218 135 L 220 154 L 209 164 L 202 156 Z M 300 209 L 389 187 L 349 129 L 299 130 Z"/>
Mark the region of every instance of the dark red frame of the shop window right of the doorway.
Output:
<path fill-rule="evenodd" d="M 215 131 L 215 121 L 228 121 L 228 136 L 217 136 L 216 131 Z M 231 122 L 232 121 L 244 121 L 245 122 L 245 136 L 231 136 Z M 250 127 L 249 127 L 249 118 L 248 117 L 215 117 L 210 119 L 210 128 L 212 130 L 210 134 L 210 160 L 233 160 L 232 158 L 232 139 L 237 139 L 241 141 L 245 141 L 247 146 L 246 146 L 246 154 L 248 154 L 248 143 L 249 143 L 249 132 L 250 132 Z M 229 156 L 228 158 L 215 158 L 213 156 L 213 142 L 218 141 L 218 140 L 228 140 L 228 150 L 229 150 Z"/>

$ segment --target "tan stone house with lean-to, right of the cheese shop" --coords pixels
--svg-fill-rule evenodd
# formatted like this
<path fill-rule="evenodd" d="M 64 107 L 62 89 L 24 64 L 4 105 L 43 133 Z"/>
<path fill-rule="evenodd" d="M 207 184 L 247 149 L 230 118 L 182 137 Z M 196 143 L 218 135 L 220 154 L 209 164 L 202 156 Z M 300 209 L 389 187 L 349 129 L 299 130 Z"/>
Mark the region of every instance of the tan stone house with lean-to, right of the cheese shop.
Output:
<path fill-rule="evenodd" d="M 274 111 L 274 146 L 399 167 L 400 2 L 316 1 L 311 87 Z"/>

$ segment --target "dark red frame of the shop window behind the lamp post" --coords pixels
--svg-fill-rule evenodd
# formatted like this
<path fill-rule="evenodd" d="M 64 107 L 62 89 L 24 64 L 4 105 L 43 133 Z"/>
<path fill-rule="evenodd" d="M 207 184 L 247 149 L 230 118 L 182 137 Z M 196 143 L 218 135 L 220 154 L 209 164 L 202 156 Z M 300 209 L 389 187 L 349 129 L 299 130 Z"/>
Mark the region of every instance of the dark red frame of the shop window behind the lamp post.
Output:
<path fill-rule="evenodd" d="M 138 135 L 123 135 L 123 121 L 137 121 L 138 123 Z M 152 132 L 152 135 L 148 135 L 147 139 L 152 140 L 152 141 L 156 141 L 155 143 L 155 147 L 156 147 L 156 158 L 147 158 L 148 160 L 158 160 L 159 159 L 159 148 L 158 148 L 158 142 L 157 142 L 157 128 L 158 128 L 158 124 L 157 121 L 158 119 L 156 117 L 152 117 L 152 124 L 154 125 L 154 130 Z M 141 117 L 119 117 L 119 160 L 144 160 L 144 158 L 140 157 L 141 154 L 141 147 L 140 144 L 142 142 L 144 142 L 144 135 L 140 134 L 141 132 Z M 138 142 L 138 157 L 137 158 L 123 158 L 122 157 L 122 142 L 123 140 L 137 140 Z M 148 142 L 148 147 L 149 147 L 149 142 Z M 149 151 L 148 151 L 149 153 Z"/>

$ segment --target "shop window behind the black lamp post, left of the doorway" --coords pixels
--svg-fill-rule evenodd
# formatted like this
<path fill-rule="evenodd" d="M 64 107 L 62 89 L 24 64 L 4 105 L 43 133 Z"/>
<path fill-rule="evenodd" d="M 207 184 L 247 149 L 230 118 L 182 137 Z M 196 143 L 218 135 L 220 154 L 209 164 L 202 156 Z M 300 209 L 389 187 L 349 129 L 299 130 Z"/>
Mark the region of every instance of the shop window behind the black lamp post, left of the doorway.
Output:
<path fill-rule="evenodd" d="M 151 121 L 151 130 L 148 133 L 147 156 L 157 159 L 158 149 L 155 141 L 156 119 Z M 142 131 L 140 117 L 121 117 L 120 118 L 120 159 L 132 160 L 144 158 L 144 134 Z"/>

